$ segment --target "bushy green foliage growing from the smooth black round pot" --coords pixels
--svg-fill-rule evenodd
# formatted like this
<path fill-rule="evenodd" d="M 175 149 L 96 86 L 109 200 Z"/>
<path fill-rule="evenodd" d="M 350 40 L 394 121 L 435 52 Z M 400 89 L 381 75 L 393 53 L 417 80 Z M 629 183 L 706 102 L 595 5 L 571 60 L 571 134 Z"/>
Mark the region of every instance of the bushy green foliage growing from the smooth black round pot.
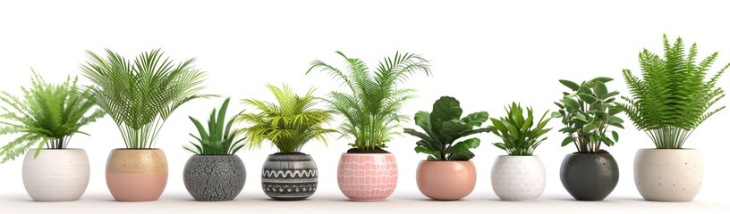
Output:
<path fill-rule="evenodd" d="M 606 135 L 609 126 L 624 128 L 624 119 L 616 116 L 621 108 L 615 105 L 617 91 L 609 92 L 606 83 L 613 78 L 594 78 L 578 85 L 572 81 L 561 79 L 560 83 L 571 89 L 563 93 L 563 99 L 556 102 L 559 111 L 553 112 L 554 118 L 560 118 L 565 125 L 559 131 L 568 136 L 562 146 L 573 143 L 578 152 L 601 152 L 601 144 L 611 146 L 618 142 L 618 133 L 611 131 L 611 138 Z"/>

